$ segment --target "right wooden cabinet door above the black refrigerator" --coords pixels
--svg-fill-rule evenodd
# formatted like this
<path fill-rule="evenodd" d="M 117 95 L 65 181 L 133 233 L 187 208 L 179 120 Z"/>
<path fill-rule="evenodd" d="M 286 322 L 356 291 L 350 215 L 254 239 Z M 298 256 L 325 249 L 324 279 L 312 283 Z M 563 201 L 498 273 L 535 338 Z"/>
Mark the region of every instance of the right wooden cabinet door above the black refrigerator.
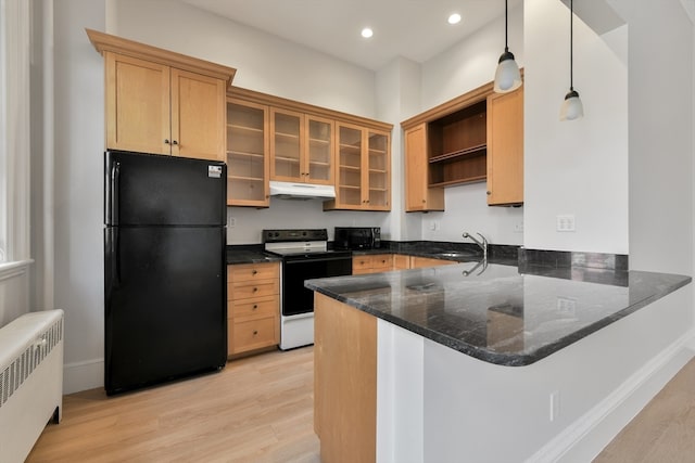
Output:
<path fill-rule="evenodd" d="M 225 160 L 225 81 L 172 68 L 172 154 Z"/>

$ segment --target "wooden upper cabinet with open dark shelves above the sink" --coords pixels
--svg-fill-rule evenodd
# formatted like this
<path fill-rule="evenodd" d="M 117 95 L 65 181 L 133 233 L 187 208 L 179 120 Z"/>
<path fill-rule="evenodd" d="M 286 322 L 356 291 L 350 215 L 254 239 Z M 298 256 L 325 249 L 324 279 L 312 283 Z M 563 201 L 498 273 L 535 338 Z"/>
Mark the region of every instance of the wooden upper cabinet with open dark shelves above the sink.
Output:
<path fill-rule="evenodd" d="M 444 188 L 488 182 L 488 204 L 523 203 L 523 88 L 492 82 L 401 124 L 406 211 L 444 210 Z"/>

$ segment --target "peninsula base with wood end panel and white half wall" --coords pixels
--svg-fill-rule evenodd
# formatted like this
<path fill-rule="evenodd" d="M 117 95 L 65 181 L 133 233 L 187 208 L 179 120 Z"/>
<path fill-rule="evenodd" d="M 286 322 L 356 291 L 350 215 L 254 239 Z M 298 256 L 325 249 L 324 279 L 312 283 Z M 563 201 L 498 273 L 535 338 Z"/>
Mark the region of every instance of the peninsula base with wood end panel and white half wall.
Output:
<path fill-rule="evenodd" d="M 464 355 L 382 319 L 375 318 L 376 332 L 363 320 L 358 334 L 350 334 L 353 327 L 345 313 L 370 316 L 316 294 L 323 324 L 340 327 L 341 337 L 367 345 L 366 338 L 375 336 L 377 365 L 376 378 L 358 370 L 342 378 L 328 375 L 324 369 L 340 369 L 343 359 L 353 368 L 371 365 L 371 348 L 357 351 L 351 340 L 343 344 L 342 353 L 332 350 L 339 346 L 337 333 L 317 322 L 317 339 L 330 338 L 332 345 L 315 353 L 321 456 L 329 463 L 591 461 L 693 357 L 690 299 L 690 292 L 672 293 L 541 361 L 507 366 Z M 657 325 L 658 333 L 652 330 Z M 346 423 L 342 413 L 320 403 L 328 399 L 328 378 L 341 383 L 348 378 L 350 386 L 342 383 L 342 388 L 332 389 L 329 400 L 332 407 L 340 403 L 344 410 L 363 411 L 363 424 Z M 375 451 L 346 458 L 349 450 L 371 449 L 361 439 L 368 438 L 366 428 L 372 420 Z"/>

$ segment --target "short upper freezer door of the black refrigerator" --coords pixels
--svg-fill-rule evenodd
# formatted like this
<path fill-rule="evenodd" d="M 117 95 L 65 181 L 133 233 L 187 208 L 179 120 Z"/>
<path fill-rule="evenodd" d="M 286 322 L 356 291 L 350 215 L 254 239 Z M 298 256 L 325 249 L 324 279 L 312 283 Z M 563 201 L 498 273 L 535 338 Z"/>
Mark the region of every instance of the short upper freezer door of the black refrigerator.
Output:
<path fill-rule="evenodd" d="M 224 226 L 227 166 L 212 160 L 108 151 L 106 226 Z"/>

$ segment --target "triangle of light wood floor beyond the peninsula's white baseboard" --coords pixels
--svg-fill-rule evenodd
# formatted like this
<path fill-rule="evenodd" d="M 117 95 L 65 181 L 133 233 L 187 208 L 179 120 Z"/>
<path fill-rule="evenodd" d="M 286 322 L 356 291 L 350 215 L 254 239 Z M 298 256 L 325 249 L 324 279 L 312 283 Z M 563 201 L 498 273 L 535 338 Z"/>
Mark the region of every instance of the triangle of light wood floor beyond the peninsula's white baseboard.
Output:
<path fill-rule="evenodd" d="M 618 462 L 695 462 L 695 359 L 594 460 Z"/>

